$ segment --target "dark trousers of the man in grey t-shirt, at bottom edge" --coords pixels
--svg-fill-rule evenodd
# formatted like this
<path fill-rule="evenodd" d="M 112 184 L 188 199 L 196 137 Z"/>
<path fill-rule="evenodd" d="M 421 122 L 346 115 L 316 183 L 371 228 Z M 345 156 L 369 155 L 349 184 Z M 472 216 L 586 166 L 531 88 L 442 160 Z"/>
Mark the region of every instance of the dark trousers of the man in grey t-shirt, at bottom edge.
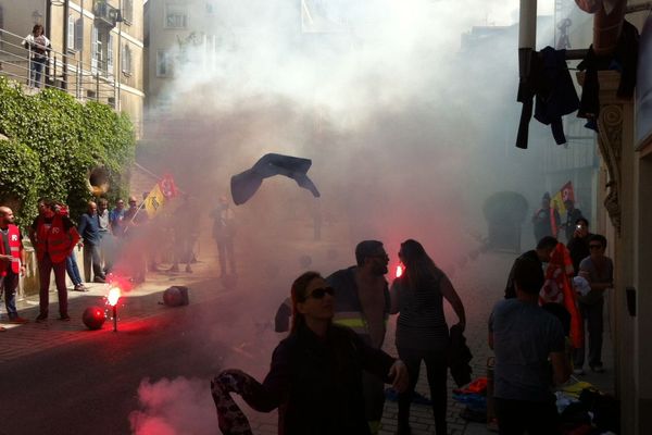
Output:
<path fill-rule="evenodd" d="M 500 435 L 556 435 L 560 419 L 554 398 L 546 402 L 494 398 Z"/>

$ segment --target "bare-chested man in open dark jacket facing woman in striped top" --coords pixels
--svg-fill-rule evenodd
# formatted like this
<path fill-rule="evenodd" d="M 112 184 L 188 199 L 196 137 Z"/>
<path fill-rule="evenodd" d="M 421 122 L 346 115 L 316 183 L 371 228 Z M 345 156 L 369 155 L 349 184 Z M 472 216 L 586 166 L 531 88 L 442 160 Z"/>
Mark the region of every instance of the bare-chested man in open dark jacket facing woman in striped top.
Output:
<path fill-rule="evenodd" d="M 335 288 L 334 322 L 349 326 L 375 348 L 385 340 L 389 316 L 389 290 L 385 274 L 389 257 L 378 240 L 364 240 L 355 247 L 356 265 L 342 269 L 326 281 Z M 363 374 L 366 417 L 372 434 L 380 427 L 385 387 L 372 374 Z"/>

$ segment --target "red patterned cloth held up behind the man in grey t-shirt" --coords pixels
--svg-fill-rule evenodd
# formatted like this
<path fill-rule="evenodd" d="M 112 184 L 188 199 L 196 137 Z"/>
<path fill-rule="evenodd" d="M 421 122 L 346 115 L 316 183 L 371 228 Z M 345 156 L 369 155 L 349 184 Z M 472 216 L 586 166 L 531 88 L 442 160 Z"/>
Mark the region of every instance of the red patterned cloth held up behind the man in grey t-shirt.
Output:
<path fill-rule="evenodd" d="M 557 244 L 546 269 L 546 283 L 539 293 L 539 303 L 560 303 L 570 314 L 570 343 L 580 348 L 584 343 L 582 320 L 573 290 L 573 260 L 563 244 Z"/>

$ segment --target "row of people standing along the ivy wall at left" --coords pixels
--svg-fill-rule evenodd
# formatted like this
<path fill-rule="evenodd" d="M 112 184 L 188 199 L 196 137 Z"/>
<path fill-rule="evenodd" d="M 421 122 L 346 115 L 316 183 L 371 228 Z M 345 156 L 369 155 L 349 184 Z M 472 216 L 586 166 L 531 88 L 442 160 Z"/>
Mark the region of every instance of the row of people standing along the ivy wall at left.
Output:
<path fill-rule="evenodd" d="M 77 224 L 70 216 L 66 204 L 47 198 L 38 200 L 38 215 L 28 227 L 28 238 L 36 254 L 39 275 L 39 314 L 36 322 L 49 318 L 50 278 L 54 273 L 54 283 L 59 297 L 59 319 L 70 321 L 67 309 L 66 273 L 74 291 L 88 291 L 87 283 L 105 283 L 111 273 L 128 276 L 135 284 L 145 281 L 147 271 L 161 271 L 159 264 L 165 260 L 172 262 L 167 272 L 178 272 L 178 263 L 186 263 L 186 273 L 192 273 L 190 264 L 196 261 L 192 232 L 185 232 L 183 243 L 180 228 L 173 225 L 174 220 L 161 219 L 158 225 L 149 227 L 142 203 L 130 197 L 128 208 L 124 200 L 115 201 L 110 210 L 109 201 L 99 198 L 89 201 L 87 210 Z M 158 234 L 153 234 L 158 233 Z M 179 249 L 164 258 L 162 247 L 146 247 L 146 238 L 170 233 L 170 240 Z M 26 323 L 18 315 L 15 297 L 21 274 L 25 273 L 26 253 L 23 234 L 14 224 L 13 211 L 0 207 L 0 293 L 4 296 L 9 323 Z M 77 264 L 75 249 L 83 250 L 83 272 Z M 121 260 L 121 261 L 117 261 Z M 4 331 L 4 328 L 0 328 Z"/>

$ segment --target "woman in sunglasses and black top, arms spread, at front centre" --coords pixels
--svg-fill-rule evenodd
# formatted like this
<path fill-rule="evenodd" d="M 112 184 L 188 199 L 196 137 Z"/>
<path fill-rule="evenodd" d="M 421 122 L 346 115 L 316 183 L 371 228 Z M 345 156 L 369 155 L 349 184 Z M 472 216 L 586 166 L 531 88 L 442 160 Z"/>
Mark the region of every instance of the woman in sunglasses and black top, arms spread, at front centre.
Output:
<path fill-rule="evenodd" d="M 241 372 L 225 371 L 213 382 L 213 396 L 216 384 L 234 390 L 224 384 L 240 378 L 243 385 L 238 389 L 244 391 L 242 397 L 249 406 L 262 412 L 279 408 L 279 434 L 371 434 L 362 371 L 376 374 L 402 391 L 408 386 L 405 364 L 366 345 L 352 330 L 333 323 L 334 289 L 319 273 L 299 276 L 291 297 L 290 335 L 274 350 L 265 381 L 258 384 Z M 224 415 L 233 407 L 221 406 L 220 401 L 215 399 L 220 427 L 225 433 Z"/>

